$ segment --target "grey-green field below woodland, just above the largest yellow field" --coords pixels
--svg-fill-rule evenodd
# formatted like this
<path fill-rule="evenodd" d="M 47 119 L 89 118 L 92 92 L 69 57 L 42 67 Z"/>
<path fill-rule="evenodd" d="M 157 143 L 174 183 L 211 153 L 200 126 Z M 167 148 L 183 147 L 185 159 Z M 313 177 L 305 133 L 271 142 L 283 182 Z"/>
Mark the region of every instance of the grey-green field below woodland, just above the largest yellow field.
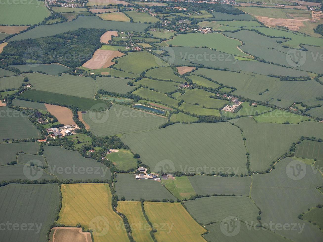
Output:
<path fill-rule="evenodd" d="M 77 151 L 57 146 L 45 146 L 44 150 L 44 156 L 49 166 L 45 171 L 59 179 L 109 180 L 111 178 L 111 172 L 107 166 L 94 159 L 84 158 Z"/>

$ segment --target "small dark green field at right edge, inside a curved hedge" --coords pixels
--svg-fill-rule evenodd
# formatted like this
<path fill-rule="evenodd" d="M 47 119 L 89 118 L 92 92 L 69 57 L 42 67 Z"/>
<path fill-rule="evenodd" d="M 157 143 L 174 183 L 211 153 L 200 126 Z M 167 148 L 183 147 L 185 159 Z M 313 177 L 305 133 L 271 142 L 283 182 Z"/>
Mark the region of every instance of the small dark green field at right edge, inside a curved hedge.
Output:
<path fill-rule="evenodd" d="M 296 146 L 295 156 L 323 160 L 323 143 L 312 140 L 303 140 L 302 143 Z"/>

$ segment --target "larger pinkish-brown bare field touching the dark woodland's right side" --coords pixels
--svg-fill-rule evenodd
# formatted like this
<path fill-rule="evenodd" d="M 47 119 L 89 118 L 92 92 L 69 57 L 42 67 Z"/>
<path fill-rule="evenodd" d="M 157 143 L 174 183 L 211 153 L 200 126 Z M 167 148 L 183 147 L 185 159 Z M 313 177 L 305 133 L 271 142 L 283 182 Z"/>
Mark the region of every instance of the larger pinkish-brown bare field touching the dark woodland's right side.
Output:
<path fill-rule="evenodd" d="M 120 57 L 124 55 L 120 51 L 117 50 L 96 50 L 93 54 L 93 57 L 85 62 L 82 66 L 96 70 L 101 68 L 108 68 L 109 66 L 114 65 L 115 63 L 111 60 L 114 57 Z"/>

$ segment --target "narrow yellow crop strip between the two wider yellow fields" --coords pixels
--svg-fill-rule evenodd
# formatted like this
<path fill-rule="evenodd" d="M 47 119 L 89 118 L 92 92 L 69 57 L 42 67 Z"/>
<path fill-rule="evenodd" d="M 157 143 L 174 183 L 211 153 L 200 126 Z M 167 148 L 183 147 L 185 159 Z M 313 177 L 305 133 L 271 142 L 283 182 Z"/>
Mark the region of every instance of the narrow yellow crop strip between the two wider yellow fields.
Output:
<path fill-rule="evenodd" d="M 119 201 L 117 210 L 128 218 L 134 240 L 153 241 L 149 233 L 151 227 L 141 210 L 141 202 Z"/>

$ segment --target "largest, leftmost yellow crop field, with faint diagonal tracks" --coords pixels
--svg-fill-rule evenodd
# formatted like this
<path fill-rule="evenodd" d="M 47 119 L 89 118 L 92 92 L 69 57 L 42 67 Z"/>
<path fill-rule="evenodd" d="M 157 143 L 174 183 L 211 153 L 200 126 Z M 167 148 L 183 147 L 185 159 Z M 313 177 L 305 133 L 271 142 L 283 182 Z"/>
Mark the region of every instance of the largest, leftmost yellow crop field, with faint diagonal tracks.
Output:
<path fill-rule="evenodd" d="M 96 242 L 128 241 L 121 217 L 111 207 L 108 184 L 62 184 L 62 208 L 57 223 L 81 224 Z"/>

